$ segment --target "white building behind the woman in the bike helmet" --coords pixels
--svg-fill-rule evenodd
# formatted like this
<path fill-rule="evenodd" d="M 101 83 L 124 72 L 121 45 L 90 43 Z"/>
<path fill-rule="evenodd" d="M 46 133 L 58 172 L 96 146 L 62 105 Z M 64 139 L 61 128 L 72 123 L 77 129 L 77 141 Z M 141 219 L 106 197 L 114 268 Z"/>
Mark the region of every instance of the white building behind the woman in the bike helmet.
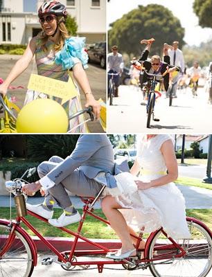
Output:
<path fill-rule="evenodd" d="M 37 0 L 37 8 L 43 3 Z M 106 0 L 60 0 L 76 18 L 78 35 L 87 43 L 106 39 Z M 24 12 L 24 0 L 0 0 L 0 44 L 28 44 L 37 35 L 37 12 Z"/>

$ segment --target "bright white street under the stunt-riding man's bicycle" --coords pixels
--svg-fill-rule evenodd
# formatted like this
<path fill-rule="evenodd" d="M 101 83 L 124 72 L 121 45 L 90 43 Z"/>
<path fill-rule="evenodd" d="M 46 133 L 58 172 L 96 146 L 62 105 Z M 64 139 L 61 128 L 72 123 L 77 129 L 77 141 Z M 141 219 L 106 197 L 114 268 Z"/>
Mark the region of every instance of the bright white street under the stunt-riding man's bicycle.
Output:
<path fill-rule="evenodd" d="M 146 107 L 140 105 L 143 98 L 138 87 L 119 87 L 119 97 L 113 98 L 113 105 L 107 108 L 108 133 L 148 133 L 148 134 L 209 134 L 212 131 L 212 106 L 207 103 L 208 95 L 202 87 L 198 88 L 197 98 L 193 98 L 191 89 L 177 91 L 173 106 L 168 106 L 164 95 L 155 103 L 154 116 L 160 121 L 151 119 L 151 128 L 146 127 Z"/>

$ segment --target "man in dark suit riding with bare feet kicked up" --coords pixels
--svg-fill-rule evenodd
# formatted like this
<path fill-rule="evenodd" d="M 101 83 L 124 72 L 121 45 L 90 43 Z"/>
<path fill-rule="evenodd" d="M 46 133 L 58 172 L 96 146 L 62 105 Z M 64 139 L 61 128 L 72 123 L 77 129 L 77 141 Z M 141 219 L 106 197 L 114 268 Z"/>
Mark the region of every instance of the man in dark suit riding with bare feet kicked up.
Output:
<path fill-rule="evenodd" d="M 162 77 L 164 79 L 164 88 L 167 91 L 169 84 L 169 73 L 173 71 L 179 71 L 180 68 L 179 66 L 170 65 L 168 49 L 172 48 L 172 46 L 166 43 L 164 43 L 164 62 L 161 62 L 161 58 L 158 55 L 153 55 L 151 57 L 151 60 L 147 60 L 148 55 L 150 53 L 150 48 L 152 46 L 152 42 L 154 42 L 153 38 L 141 40 L 141 44 L 147 44 L 147 46 L 141 53 L 141 56 L 139 57 L 139 62 L 141 62 L 141 64 L 143 65 L 143 67 L 145 67 L 145 70 L 148 73 L 157 73 L 159 75 L 163 75 L 166 72 L 166 70 L 168 70 L 168 73 Z M 142 84 L 144 82 L 147 82 L 148 79 L 150 79 L 150 77 L 148 77 L 148 75 L 144 72 Z M 161 80 L 161 77 L 158 77 L 157 80 Z"/>

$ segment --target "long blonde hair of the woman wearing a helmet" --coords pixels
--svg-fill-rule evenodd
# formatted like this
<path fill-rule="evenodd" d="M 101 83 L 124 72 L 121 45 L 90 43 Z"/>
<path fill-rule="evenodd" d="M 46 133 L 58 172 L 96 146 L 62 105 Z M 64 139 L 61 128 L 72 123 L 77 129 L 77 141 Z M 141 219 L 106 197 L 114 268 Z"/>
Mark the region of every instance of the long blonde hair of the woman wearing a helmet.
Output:
<path fill-rule="evenodd" d="M 58 38 L 58 41 L 55 42 L 55 51 L 60 51 L 62 49 L 62 47 L 64 46 L 64 41 L 65 39 L 71 37 L 69 35 L 69 32 L 67 30 L 67 27 L 65 26 L 64 24 L 64 21 L 60 21 L 64 19 L 64 17 L 57 17 L 57 20 L 58 20 L 58 28 L 60 30 L 60 35 L 59 35 L 59 38 Z M 44 31 L 42 31 L 41 33 L 39 33 L 39 38 L 41 39 L 41 47 L 44 51 L 47 51 L 47 48 L 46 48 L 46 42 L 48 40 L 48 35 L 46 35 L 46 33 Z"/>

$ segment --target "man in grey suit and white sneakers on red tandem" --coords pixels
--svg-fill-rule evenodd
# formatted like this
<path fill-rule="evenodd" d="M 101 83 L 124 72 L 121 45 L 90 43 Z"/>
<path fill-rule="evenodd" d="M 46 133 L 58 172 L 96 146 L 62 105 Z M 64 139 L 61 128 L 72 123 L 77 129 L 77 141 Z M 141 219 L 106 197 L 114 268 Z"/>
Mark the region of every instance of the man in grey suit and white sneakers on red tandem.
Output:
<path fill-rule="evenodd" d="M 51 157 L 39 164 L 37 172 L 39 181 L 27 184 L 22 190 L 27 195 L 33 195 L 40 188 L 48 192 L 43 204 L 27 204 L 27 208 L 47 218 L 53 226 L 80 221 L 80 214 L 73 207 L 66 189 L 73 195 L 95 197 L 103 186 L 94 179 L 99 172 L 105 172 L 107 186 L 116 187 L 114 151 L 106 134 L 80 135 L 70 156 L 66 159 Z M 54 202 L 64 209 L 58 220 L 51 219 Z"/>

